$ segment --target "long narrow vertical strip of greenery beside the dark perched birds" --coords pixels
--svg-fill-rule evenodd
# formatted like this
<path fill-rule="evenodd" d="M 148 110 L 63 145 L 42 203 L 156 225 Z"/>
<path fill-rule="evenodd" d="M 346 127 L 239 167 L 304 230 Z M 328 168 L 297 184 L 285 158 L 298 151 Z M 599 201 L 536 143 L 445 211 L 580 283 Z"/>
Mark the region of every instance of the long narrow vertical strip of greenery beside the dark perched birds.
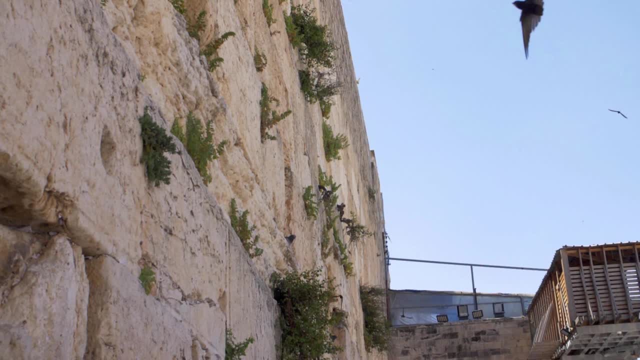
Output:
<path fill-rule="evenodd" d="M 321 189 L 321 200 L 323 202 L 324 208 L 324 216 L 325 222 L 322 234 L 322 253 L 326 258 L 328 256 L 331 245 L 331 238 L 333 236 L 333 242 L 337 245 L 337 258 L 340 260 L 340 265 L 344 269 L 344 274 L 346 276 L 353 275 L 353 263 L 349 260 L 349 251 L 342 241 L 342 236 L 340 236 L 340 230 L 338 229 L 337 220 L 339 220 L 340 215 L 336 213 L 337 203 L 338 203 L 338 194 L 337 191 L 340 188 L 340 185 L 336 184 L 333 180 L 332 176 L 327 176 L 325 172 L 323 172 L 322 168 L 318 166 L 318 184 Z M 334 248 L 335 249 L 335 248 Z"/>

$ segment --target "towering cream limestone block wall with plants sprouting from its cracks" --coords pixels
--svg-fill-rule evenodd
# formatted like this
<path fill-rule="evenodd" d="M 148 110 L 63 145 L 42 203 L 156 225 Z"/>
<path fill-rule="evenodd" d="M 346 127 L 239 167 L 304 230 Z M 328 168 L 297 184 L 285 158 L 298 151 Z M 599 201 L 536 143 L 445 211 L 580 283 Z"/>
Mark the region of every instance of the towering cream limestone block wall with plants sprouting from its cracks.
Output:
<path fill-rule="evenodd" d="M 246 359 L 276 359 L 269 275 L 312 268 L 335 278 L 348 313 L 338 358 L 386 358 L 362 337 L 358 288 L 385 284 L 384 218 L 340 2 L 314 3 L 333 29 L 344 84 L 328 122 L 350 145 L 330 163 L 284 29 L 292 4 L 271 4 L 269 29 L 261 0 L 186 0 L 187 17 L 207 13 L 198 43 L 166 0 L 0 1 L 0 358 L 221 359 L 228 328 L 255 338 Z M 236 36 L 209 72 L 200 51 L 226 31 Z M 262 83 L 279 111 L 292 110 L 264 143 Z M 209 165 L 210 184 L 177 140 L 170 184 L 148 183 L 145 108 L 167 130 L 189 111 L 212 120 L 228 146 Z M 352 276 L 322 256 L 323 225 L 305 215 L 303 188 L 316 188 L 319 166 L 374 233 L 349 247 Z M 249 258 L 230 227 L 232 198 L 250 211 L 262 256 Z M 149 295 L 143 266 L 156 274 Z"/>

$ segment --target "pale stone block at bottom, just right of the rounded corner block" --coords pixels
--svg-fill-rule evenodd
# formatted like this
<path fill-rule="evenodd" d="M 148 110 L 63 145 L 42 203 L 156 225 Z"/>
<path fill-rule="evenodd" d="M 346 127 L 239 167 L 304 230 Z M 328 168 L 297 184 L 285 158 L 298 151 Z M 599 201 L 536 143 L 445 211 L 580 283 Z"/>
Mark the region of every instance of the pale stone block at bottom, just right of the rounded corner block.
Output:
<path fill-rule="evenodd" d="M 87 323 L 88 359 L 193 359 L 195 341 L 212 359 L 224 354 L 224 322 L 220 309 L 206 302 L 193 315 L 217 327 L 216 336 L 201 334 L 185 312 L 146 295 L 138 277 L 109 256 L 87 261 L 92 296 Z M 208 314 L 207 314 L 208 313 Z M 217 326 L 216 326 L 217 325 Z"/>

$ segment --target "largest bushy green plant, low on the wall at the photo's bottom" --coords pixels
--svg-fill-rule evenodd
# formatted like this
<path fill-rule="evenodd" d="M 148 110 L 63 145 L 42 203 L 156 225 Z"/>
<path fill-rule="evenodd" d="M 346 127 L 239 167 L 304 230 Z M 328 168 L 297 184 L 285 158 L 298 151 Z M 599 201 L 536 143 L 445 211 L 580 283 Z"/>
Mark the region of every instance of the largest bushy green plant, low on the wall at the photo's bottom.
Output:
<path fill-rule="evenodd" d="M 282 313 L 282 359 L 315 360 L 337 354 L 331 327 L 344 320 L 344 313 L 330 311 L 337 299 L 332 281 L 322 280 L 320 269 L 273 273 L 271 288 Z"/>

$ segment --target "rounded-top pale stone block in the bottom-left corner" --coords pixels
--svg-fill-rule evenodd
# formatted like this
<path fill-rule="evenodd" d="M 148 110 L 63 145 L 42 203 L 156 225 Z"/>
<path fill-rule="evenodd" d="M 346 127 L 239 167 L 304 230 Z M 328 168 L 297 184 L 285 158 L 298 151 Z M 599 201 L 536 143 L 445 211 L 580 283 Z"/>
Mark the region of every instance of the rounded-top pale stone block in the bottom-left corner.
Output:
<path fill-rule="evenodd" d="M 15 243 L 29 236 L 15 234 Z M 81 249 L 55 236 L 35 256 L 0 305 L 0 358 L 83 359 L 89 289 Z"/>

